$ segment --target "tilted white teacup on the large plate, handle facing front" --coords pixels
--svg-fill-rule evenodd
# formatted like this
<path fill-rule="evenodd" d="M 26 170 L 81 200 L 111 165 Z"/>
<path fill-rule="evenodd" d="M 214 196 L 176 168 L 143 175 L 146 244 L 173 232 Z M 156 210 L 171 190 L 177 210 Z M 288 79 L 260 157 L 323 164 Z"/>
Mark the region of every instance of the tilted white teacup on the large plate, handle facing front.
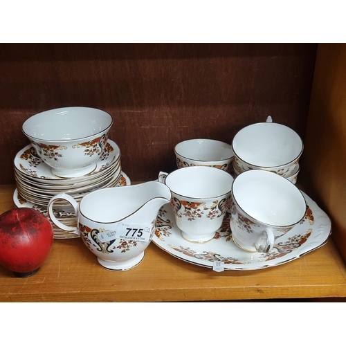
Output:
<path fill-rule="evenodd" d="M 239 174 L 231 195 L 233 241 L 246 251 L 271 251 L 275 239 L 299 224 L 307 210 L 302 192 L 291 181 L 265 170 Z"/>

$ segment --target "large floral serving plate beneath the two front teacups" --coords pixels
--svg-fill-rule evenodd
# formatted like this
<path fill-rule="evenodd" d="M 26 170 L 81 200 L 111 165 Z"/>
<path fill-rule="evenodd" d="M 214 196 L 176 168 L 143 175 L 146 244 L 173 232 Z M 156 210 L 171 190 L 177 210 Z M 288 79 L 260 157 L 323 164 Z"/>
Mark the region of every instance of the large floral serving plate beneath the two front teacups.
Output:
<path fill-rule="evenodd" d="M 271 253 L 249 253 L 235 245 L 231 237 L 229 215 L 212 240 L 205 244 L 192 244 L 181 237 L 170 203 L 158 212 L 152 242 L 170 255 L 197 266 L 213 268 L 215 261 L 224 262 L 226 271 L 279 266 L 326 244 L 331 234 L 331 221 L 327 214 L 307 194 L 304 197 L 309 207 L 304 219 L 289 233 L 277 239 Z"/>

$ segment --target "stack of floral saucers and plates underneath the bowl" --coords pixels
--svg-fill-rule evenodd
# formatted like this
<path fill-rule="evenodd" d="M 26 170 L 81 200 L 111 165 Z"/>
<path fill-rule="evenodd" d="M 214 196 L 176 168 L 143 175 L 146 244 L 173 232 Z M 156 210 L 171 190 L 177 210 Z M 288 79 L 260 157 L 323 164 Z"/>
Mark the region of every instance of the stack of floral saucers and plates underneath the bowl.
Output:
<path fill-rule="evenodd" d="M 80 201 L 89 192 L 102 188 L 130 185 L 126 174 L 121 171 L 120 149 L 113 140 L 108 140 L 102 156 L 96 161 L 93 172 L 72 178 L 63 178 L 52 174 L 37 154 L 33 145 L 27 145 L 15 156 L 15 179 L 17 189 L 13 200 L 17 207 L 35 208 L 47 216 L 47 206 L 55 194 L 70 194 Z M 66 202 L 55 203 L 55 216 L 64 219 L 64 224 L 76 226 L 73 208 Z M 69 233 L 53 224 L 55 238 L 79 237 L 78 233 Z"/>

